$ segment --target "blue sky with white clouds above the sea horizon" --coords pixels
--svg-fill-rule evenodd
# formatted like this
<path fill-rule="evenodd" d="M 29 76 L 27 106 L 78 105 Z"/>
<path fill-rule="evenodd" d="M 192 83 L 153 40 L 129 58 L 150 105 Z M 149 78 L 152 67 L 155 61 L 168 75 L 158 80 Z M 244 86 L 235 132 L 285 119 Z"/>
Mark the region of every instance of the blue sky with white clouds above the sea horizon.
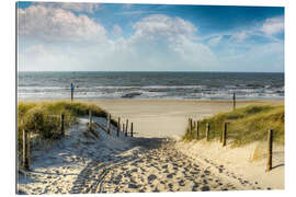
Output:
<path fill-rule="evenodd" d="M 20 71 L 284 72 L 284 8 L 18 2 Z"/>

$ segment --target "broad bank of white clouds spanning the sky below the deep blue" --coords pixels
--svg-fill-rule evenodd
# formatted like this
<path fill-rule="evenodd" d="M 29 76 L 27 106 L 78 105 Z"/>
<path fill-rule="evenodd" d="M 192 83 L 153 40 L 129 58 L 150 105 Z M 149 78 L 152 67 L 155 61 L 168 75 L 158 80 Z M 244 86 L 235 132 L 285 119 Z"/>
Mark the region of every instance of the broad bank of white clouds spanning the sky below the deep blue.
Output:
<path fill-rule="evenodd" d="M 126 35 L 121 24 L 107 30 L 94 21 L 91 14 L 98 10 L 99 4 L 93 3 L 38 3 L 18 9 L 19 69 L 252 71 L 265 63 L 265 71 L 276 71 L 283 67 L 283 42 L 248 44 L 254 35 L 272 37 L 283 32 L 280 16 L 266 19 L 257 30 L 208 39 L 198 35 L 198 25 L 167 14 L 139 18 Z M 241 46 L 247 47 L 242 50 Z M 269 63 L 269 58 L 275 63 Z"/>

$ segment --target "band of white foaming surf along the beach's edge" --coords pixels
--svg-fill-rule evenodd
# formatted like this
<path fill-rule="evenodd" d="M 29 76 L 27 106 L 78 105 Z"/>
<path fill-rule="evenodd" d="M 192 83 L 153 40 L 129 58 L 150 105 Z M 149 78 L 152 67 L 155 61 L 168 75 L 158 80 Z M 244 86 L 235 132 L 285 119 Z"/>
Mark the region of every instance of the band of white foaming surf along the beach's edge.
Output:
<path fill-rule="evenodd" d="M 66 99 L 70 89 L 61 86 L 21 86 L 20 97 Z M 238 99 L 271 99 L 284 97 L 284 88 L 264 86 L 250 89 L 247 86 L 225 85 L 209 88 L 207 85 L 153 85 L 153 86 L 90 86 L 77 88 L 75 96 L 81 99 L 196 99 L 196 100 L 229 100 L 236 92 Z"/>

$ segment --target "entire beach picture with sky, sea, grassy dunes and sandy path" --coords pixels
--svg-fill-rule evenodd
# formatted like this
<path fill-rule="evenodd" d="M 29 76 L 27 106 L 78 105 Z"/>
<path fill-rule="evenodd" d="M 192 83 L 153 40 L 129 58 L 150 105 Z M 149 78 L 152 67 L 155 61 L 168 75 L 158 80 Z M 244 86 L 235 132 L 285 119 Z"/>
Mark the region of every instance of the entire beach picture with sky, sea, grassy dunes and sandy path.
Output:
<path fill-rule="evenodd" d="M 285 189 L 285 7 L 15 13 L 16 194 Z"/>

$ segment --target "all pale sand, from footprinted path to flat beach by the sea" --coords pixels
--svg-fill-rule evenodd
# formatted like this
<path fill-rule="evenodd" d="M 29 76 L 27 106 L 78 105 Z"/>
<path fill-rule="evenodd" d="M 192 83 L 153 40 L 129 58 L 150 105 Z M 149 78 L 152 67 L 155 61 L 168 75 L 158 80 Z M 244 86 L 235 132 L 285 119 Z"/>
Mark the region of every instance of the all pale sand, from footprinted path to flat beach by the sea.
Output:
<path fill-rule="evenodd" d="M 88 118 L 67 129 L 67 136 L 32 150 L 31 172 L 20 174 L 20 194 L 147 193 L 283 189 L 283 148 L 278 166 L 265 173 L 264 157 L 252 161 L 258 144 L 240 149 L 217 142 L 179 141 L 187 117 L 202 118 L 231 108 L 229 102 L 100 100 L 115 117 L 134 123 L 136 138 L 88 131 Z M 269 101 L 281 104 L 282 101 Z M 262 101 L 240 102 L 238 106 Z M 106 125 L 104 118 L 93 121 Z M 34 140 L 33 140 L 34 141 Z"/>

